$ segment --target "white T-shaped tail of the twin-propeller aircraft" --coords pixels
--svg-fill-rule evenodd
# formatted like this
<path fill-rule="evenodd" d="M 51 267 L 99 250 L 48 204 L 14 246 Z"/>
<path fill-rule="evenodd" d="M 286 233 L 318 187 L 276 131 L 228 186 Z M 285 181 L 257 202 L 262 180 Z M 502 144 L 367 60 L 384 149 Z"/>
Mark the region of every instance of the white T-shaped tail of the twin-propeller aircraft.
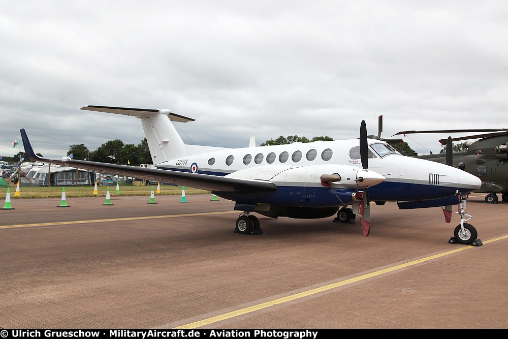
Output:
<path fill-rule="evenodd" d="M 194 119 L 175 114 L 169 109 L 141 109 L 109 106 L 83 106 L 81 109 L 96 112 L 133 115 L 141 119 L 153 164 L 185 156 L 185 144 L 171 121 L 187 122 Z M 168 119 L 169 118 L 169 119 Z"/>

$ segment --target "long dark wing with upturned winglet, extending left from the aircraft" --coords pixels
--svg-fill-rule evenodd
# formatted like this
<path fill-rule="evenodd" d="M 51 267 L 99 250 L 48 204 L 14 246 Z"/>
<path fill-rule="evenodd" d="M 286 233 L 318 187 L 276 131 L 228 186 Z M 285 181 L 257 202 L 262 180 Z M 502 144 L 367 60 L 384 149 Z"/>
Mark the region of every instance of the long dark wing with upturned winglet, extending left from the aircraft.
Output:
<path fill-rule="evenodd" d="M 20 130 L 21 139 L 25 148 L 26 157 L 40 162 L 70 166 L 75 168 L 88 169 L 98 172 L 115 173 L 124 176 L 132 176 L 142 179 L 150 179 L 159 182 L 176 184 L 178 186 L 187 186 L 210 192 L 270 192 L 276 191 L 277 186 L 270 181 L 247 180 L 228 178 L 223 176 L 187 173 L 171 170 L 162 170 L 154 168 L 143 168 L 126 165 L 116 165 L 108 163 L 98 163 L 93 161 L 74 160 L 68 157 L 61 159 L 44 158 L 36 155 L 28 136 L 24 129 Z"/>

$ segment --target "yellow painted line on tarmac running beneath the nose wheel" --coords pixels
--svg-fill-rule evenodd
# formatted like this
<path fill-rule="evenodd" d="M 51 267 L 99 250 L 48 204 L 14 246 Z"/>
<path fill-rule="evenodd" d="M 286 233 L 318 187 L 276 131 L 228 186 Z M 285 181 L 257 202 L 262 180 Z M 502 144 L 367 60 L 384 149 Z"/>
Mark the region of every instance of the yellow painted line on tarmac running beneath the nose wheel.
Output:
<path fill-rule="evenodd" d="M 501 236 L 501 237 L 498 237 L 498 238 L 495 238 L 495 239 L 483 241 L 483 243 L 485 244 L 485 243 L 489 243 L 489 242 L 493 242 L 493 241 L 497 241 L 497 240 L 501 240 L 501 239 L 506 239 L 506 238 L 508 238 L 508 235 L 504 235 L 504 236 Z M 340 281 L 340 282 L 337 282 L 337 283 L 333 283 L 333 284 L 330 284 L 330 285 L 326 285 L 326 286 L 323 286 L 323 287 L 318 287 L 318 288 L 314 288 L 314 289 L 311 289 L 311 290 L 308 290 L 308 291 L 292 294 L 292 295 L 289 295 L 287 297 L 282 297 L 282 298 L 278 298 L 278 299 L 275 299 L 275 300 L 263 302 L 263 303 L 260 303 L 260 304 L 257 304 L 257 305 L 252 305 L 252 306 L 249 306 L 249 307 L 245 307 L 244 309 L 240 309 L 240 310 L 236 310 L 236 311 L 233 311 L 233 312 L 221 314 L 221 315 L 218 315 L 218 316 L 215 316 L 215 317 L 211 317 L 211 318 L 208 318 L 208 319 L 203 319 L 203 320 L 196 321 L 196 322 L 193 322 L 193 323 L 189 323 L 189 324 L 186 324 L 186 325 L 181 325 L 181 326 L 178 326 L 178 327 L 175 327 L 175 328 L 198 328 L 198 327 L 201 327 L 201 326 L 209 325 L 209 324 L 212 324 L 212 323 L 215 323 L 215 322 L 231 319 L 231 318 L 238 317 L 238 316 L 241 316 L 241 315 L 244 315 L 244 314 L 248 314 L 248 313 L 251 313 L 251 312 L 258 311 L 258 310 L 266 309 L 267 307 L 270 307 L 270 306 L 275 306 L 275 305 L 278 305 L 278 304 L 281 304 L 281 303 L 284 303 L 284 302 L 288 302 L 288 301 L 293 301 L 293 300 L 296 300 L 296 299 L 304 298 L 304 297 L 307 297 L 307 296 L 310 296 L 310 295 L 313 295 L 313 294 L 325 292 L 325 291 L 328 291 L 328 290 L 331 290 L 331 289 L 334 289 L 334 288 L 337 288 L 337 287 L 345 286 L 345 285 L 348 285 L 348 284 L 353 284 L 353 283 L 356 283 L 356 282 L 359 282 L 359 281 L 362 281 L 362 280 L 365 280 L 365 279 L 373 278 L 374 276 L 390 273 L 390 272 L 397 271 L 397 270 L 400 270 L 400 269 L 403 269 L 403 268 L 406 268 L 406 267 L 409 267 L 409 266 L 417 265 L 417 264 L 424 263 L 424 262 L 429 261 L 429 260 L 433 260 L 433 259 L 436 259 L 436 258 L 441 258 L 441 257 L 444 257 L 444 256 L 448 256 L 448 255 L 451 255 L 451 254 L 454 254 L 454 253 L 458 253 L 458 252 L 469 250 L 469 249 L 473 249 L 473 248 L 474 248 L 474 246 L 464 245 L 461 248 L 458 248 L 458 249 L 455 249 L 455 250 L 452 250 L 452 251 L 447 251 L 447 252 L 444 252 L 444 253 L 436 254 L 436 255 L 429 256 L 429 257 L 426 257 L 426 258 L 423 258 L 423 259 L 412 260 L 412 261 L 409 261 L 409 262 L 404 263 L 404 264 L 395 265 L 395 266 L 392 266 L 392 267 L 380 269 L 378 271 L 375 271 L 375 272 L 372 272 L 372 273 L 368 273 L 368 274 L 363 274 L 363 275 L 357 276 L 355 278 L 346 279 L 346 280 L 343 280 L 343 281 Z"/>

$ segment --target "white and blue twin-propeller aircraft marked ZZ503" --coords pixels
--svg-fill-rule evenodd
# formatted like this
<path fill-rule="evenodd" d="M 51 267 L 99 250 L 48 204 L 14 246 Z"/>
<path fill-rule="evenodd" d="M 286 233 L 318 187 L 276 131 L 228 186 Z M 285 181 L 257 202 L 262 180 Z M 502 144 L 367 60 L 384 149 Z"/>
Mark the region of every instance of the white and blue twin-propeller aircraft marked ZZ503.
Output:
<path fill-rule="evenodd" d="M 39 157 L 22 129 L 26 156 L 35 161 L 210 191 L 236 202 L 235 210 L 242 213 L 235 232 L 242 234 L 262 233 L 253 212 L 297 219 L 327 218 L 337 213 L 334 221 L 340 222 L 354 222 L 359 214 L 364 235 L 368 236 L 370 201 L 378 205 L 396 201 L 400 209 L 458 204 L 456 213 L 461 221 L 450 242 L 481 244 L 477 230 L 466 223 L 471 216 L 465 211 L 467 195 L 481 187 L 481 180 L 451 166 L 402 156 L 380 135 L 368 138 L 365 121 L 359 139 L 222 148 L 186 145 L 171 121 L 194 119 L 170 110 L 108 106 L 81 109 L 139 118 L 156 168 Z M 443 211 L 450 222 L 451 208 Z"/>

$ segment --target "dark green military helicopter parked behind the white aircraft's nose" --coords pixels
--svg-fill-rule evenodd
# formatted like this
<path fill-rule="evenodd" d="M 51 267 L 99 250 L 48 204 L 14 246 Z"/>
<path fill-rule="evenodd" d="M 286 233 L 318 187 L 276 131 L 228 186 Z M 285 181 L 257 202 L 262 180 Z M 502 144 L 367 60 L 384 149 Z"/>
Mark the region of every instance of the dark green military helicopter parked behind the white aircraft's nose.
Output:
<path fill-rule="evenodd" d="M 487 193 L 485 202 L 497 203 L 501 199 L 508 202 L 508 129 L 469 129 L 469 130 L 437 130 L 437 131 L 403 131 L 395 135 L 416 133 L 479 133 L 495 132 L 487 134 L 468 135 L 464 137 L 441 139 L 442 145 L 446 146 L 446 155 L 430 154 L 417 156 L 447 165 L 451 165 L 468 173 L 478 176 L 482 180 L 482 187 L 476 191 Z M 480 139 L 479 139 L 480 138 Z M 479 139 L 474 142 L 465 142 L 466 151 L 451 152 L 452 142 L 460 140 Z"/>

